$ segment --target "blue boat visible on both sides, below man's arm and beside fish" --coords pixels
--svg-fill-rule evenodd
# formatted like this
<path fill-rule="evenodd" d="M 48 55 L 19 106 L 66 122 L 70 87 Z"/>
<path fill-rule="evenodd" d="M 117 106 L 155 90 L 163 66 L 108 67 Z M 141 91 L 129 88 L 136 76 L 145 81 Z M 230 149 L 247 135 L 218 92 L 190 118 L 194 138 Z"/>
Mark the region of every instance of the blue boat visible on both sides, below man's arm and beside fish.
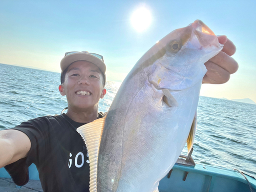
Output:
<path fill-rule="evenodd" d="M 159 192 L 256 192 L 256 179 L 240 170 L 196 164 L 191 152 L 181 155 L 174 167 L 160 181 Z M 29 167 L 30 181 L 15 185 L 4 168 L 0 168 L 0 191 L 42 191 L 36 166 Z"/>

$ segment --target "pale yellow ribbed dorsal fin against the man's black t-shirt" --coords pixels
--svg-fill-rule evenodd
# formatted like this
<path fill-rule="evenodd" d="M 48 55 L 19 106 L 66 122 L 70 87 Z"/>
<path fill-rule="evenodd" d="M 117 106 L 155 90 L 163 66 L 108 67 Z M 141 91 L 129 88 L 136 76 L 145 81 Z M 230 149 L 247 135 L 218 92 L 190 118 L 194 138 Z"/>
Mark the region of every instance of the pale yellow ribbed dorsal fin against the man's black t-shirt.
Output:
<path fill-rule="evenodd" d="M 97 165 L 99 145 L 104 128 L 105 117 L 94 120 L 77 128 L 77 132 L 86 143 L 90 161 L 90 192 L 97 191 Z"/>

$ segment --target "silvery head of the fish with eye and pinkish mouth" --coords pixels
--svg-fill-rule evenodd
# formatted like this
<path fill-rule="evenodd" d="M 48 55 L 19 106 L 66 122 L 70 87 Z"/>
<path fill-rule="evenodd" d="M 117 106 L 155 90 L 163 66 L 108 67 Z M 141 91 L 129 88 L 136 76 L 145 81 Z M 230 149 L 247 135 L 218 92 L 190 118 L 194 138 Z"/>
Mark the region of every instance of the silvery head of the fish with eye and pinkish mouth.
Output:
<path fill-rule="evenodd" d="M 153 63 L 149 81 L 156 88 L 170 91 L 184 90 L 202 81 L 207 72 L 204 63 L 223 48 L 201 20 L 174 30 L 155 46 L 158 59 Z"/>

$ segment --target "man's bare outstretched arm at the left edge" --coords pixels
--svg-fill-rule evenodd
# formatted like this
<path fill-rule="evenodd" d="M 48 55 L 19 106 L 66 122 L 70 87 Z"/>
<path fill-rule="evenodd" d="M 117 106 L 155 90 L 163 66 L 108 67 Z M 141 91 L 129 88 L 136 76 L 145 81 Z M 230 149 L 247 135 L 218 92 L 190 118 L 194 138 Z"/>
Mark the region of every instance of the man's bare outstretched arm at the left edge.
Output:
<path fill-rule="evenodd" d="M 27 157 L 31 147 L 28 136 L 17 130 L 0 131 L 0 168 Z"/>

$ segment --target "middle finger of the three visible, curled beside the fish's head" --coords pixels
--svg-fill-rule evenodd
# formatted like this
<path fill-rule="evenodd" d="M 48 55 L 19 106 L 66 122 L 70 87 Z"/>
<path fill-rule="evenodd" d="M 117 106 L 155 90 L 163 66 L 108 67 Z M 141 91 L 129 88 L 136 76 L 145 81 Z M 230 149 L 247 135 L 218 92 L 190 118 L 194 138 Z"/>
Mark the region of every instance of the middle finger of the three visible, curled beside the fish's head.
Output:
<path fill-rule="evenodd" d="M 229 74 L 233 74 L 238 70 L 238 62 L 222 51 L 218 55 L 212 57 L 209 61 L 216 63 L 218 66 L 229 72 Z"/>

